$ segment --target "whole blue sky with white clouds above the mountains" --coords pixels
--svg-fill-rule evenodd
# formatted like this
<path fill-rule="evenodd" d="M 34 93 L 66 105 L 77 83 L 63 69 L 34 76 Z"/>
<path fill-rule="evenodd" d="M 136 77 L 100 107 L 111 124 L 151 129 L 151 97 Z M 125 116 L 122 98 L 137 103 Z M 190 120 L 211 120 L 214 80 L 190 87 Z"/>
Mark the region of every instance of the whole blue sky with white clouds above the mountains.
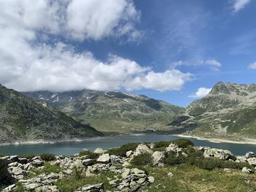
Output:
<path fill-rule="evenodd" d="M 119 90 L 186 107 L 256 82 L 256 1 L 0 0 L 0 83 Z"/>

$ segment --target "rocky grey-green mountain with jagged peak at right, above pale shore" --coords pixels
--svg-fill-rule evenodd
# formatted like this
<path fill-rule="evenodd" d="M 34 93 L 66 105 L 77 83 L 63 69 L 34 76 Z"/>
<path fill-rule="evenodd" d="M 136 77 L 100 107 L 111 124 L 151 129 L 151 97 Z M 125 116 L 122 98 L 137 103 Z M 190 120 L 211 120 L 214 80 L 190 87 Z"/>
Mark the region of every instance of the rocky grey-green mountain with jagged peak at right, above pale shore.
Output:
<path fill-rule="evenodd" d="M 217 82 L 169 126 L 203 137 L 256 138 L 256 85 Z"/>

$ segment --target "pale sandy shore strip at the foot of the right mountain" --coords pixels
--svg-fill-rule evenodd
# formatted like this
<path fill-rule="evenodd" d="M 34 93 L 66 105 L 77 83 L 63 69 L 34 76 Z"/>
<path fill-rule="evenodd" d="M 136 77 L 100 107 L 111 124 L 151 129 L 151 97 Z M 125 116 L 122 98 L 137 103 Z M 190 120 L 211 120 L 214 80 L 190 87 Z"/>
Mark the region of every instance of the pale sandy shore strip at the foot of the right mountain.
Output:
<path fill-rule="evenodd" d="M 234 141 L 234 140 L 230 140 L 230 139 L 198 137 L 198 136 L 192 136 L 192 135 L 187 135 L 187 134 L 173 134 L 173 135 L 175 135 L 177 137 L 195 138 L 197 140 L 207 140 L 208 142 L 214 142 L 214 143 L 234 143 L 234 144 L 256 145 L 256 139 L 249 139 L 249 138 L 243 138 L 244 141 Z"/>

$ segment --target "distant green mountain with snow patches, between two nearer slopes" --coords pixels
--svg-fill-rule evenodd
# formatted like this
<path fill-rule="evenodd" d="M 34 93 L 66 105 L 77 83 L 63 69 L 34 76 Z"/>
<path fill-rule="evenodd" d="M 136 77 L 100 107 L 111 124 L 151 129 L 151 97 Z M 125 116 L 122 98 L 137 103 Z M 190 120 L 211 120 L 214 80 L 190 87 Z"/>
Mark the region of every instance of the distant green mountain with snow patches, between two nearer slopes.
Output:
<path fill-rule="evenodd" d="M 167 123 L 183 110 L 147 96 L 118 91 L 36 91 L 23 94 L 45 101 L 78 122 L 90 123 L 100 131 L 166 128 Z"/>

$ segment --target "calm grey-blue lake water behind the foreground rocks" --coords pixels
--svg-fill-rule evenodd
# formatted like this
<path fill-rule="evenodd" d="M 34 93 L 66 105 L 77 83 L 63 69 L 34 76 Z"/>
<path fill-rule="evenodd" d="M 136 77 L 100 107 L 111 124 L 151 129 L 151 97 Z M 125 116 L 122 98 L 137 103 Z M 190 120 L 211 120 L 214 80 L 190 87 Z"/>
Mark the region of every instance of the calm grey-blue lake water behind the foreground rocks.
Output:
<path fill-rule="evenodd" d="M 0 153 L 7 155 L 18 155 L 25 153 L 54 153 L 56 155 L 73 155 L 79 153 L 83 148 L 88 150 L 94 150 L 97 147 L 108 149 L 111 147 L 118 147 L 120 145 L 129 142 L 157 142 L 157 141 L 169 141 L 173 139 L 179 139 L 173 135 L 164 134 L 125 134 L 116 137 L 104 137 L 99 139 L 89 139 L 83 142 L 63 142 L 56 144 L 43 144 L 43 145 L 10 145 L 0 146 Z M 227 149 L 233 152 L 235 155 L 244 155 L 247 151 L 253 151 L 256 153 L 256 145 L 247 144 L 233 144 L 233 143 L 213 143 L 206 140 L 197 140 L 189 138 L 196 146 L 208 146 L 221 149 Z"/>

